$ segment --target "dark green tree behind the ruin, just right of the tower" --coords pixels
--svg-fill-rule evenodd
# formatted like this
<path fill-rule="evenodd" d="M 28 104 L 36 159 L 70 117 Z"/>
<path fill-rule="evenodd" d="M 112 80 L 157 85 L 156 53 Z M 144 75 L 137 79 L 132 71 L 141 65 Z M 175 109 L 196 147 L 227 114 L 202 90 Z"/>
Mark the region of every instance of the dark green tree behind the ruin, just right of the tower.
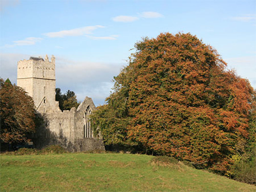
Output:
<path fill-rule="evenodd" d="M 72 107 L 77 108 L 80 102 L 77 101 L 77 96 L 73 91 L 68 90 L 67 93 L 62 94 L 60 88 L 55 89 L 55 100 L 59 101 L 59 107 L 63 110 L 70 110 Z"/>

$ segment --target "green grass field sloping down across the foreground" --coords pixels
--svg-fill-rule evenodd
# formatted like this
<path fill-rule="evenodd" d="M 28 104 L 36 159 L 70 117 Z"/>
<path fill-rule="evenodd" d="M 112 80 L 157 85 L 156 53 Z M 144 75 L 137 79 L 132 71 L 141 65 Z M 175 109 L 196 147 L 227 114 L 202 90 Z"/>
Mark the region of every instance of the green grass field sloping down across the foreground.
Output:
<path fill-rule="evenodd" d="M 1 191 L 256 191 L 256 186 L 136 154 L 1 155 Z"/>

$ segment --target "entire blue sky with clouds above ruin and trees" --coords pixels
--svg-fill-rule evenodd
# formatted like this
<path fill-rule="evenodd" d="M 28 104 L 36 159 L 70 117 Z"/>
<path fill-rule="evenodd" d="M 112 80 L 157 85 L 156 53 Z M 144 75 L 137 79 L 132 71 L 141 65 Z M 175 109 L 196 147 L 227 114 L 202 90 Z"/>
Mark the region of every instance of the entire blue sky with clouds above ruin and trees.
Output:
<path fill-rule="evenodd" d="M 56 57 L 56 87 L 104 104 L 134 43 L 190 32 L 256 88 L 256 1 L 1 0 L 0 76 L 17 62 Z"/>

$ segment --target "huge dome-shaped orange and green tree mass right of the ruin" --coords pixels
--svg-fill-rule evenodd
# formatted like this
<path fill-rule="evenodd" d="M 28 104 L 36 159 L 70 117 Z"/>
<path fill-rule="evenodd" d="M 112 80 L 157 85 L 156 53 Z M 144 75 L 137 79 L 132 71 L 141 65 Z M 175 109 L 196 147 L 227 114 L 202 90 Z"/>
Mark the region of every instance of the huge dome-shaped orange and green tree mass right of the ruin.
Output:
<path fill-rule="evenodd" d="M 144 38 L 135 48 L 108 104 L 92 116 L 94 131 L 107 144 L 226 172 L 245 143 L 255 142 L 256 93 L 248 80 L 189 33 Z"/>

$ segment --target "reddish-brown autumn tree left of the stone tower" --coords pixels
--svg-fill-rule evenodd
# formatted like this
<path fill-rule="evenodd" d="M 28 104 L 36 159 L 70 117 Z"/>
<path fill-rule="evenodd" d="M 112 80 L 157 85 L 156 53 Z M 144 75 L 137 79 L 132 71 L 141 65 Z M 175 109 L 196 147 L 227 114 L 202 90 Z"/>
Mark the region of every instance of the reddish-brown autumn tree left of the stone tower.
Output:
<path fill-rule="evenodd" d="M 0 79 L 0 116 L 3 142 L 26 142 L 26 134 L 35 131 L 34 101 L 9 79 Z"/>

